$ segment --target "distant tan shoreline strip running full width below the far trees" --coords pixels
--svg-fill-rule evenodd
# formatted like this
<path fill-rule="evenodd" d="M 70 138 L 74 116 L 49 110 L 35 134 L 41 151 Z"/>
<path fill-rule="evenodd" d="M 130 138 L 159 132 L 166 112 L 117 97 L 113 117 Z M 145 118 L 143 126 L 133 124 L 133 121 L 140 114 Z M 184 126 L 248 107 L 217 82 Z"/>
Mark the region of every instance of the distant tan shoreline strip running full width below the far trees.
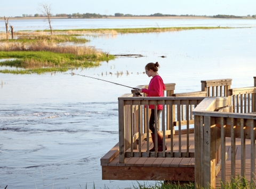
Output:
<path fill-rule="evenodd" d="M 6 17 L 9 20 L 39 20 L 47 19 L 46 17 Z M 88 18 L 69 18 L 69 17 L 51 17 L 51 19 L 88 19 Z M 166 20 L 166 19 L 235 19 L 235 20 L 247 20 L 255 18 L 213 18 L 213 17 L 107 17 L 107 18 L 90 18 L 90 19 L 155 19 L 155 20 Z M 0 20 L 4 20 L 1 17 Z"/>

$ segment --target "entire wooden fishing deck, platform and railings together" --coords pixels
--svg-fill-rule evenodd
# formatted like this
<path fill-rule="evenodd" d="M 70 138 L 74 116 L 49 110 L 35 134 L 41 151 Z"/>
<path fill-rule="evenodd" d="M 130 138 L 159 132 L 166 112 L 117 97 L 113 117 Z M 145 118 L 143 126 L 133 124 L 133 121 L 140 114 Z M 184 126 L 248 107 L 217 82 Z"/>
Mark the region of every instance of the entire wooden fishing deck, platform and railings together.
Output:
<path fill-rule="evenodd" d="M 164 97 L 139 97 L 135 89 L 118 97 L 119 143 L 101 159 L 102 179 L 190 181 L 197 188 L 215 188 L 220 180 L 230 182 L 231 175 L 240 175 L 255 184 L 253 79 L 254 87 L 231 88 L 232 79 L 214 79 L 202 80 L 198 92 L 175 94 L 175 84 L 165 84 Z M 163 111 L 162 124 L 156 127 L 171 138 L 165 137 L 165 152 L 147 152 L 153 145 L 148 138 L 149 105 L 157 104 Z M 182 126 L 187 126 L 185 133 Z M 179 129 L 174 138 L 173 128 Z"/>

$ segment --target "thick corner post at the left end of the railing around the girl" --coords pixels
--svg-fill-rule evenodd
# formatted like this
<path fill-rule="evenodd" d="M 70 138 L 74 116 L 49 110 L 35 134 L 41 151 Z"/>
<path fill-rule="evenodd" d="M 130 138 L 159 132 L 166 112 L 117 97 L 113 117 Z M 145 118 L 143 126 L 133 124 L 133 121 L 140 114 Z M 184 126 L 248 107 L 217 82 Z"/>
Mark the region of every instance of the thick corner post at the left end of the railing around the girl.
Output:
<path fill-rule="evenodd" d="M 119 163 L 125 163 L 124 147 L 124 101 L 118 99 Z"/>

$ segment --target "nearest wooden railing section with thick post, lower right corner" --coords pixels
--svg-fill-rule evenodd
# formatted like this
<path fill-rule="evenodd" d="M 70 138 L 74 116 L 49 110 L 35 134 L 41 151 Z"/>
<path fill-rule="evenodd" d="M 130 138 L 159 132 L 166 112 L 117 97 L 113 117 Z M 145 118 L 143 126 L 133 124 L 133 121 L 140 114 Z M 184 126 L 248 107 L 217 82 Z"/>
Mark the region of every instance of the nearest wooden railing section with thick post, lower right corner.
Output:
<path fill-rule="evenodd" d="M 231 179 L 236 175 L 236 138 L 241 138 L 241 173 L 245 177 L 245 139 L 251 139 L 251 183 L 255 182 L 256 116 L 249 113 L 212 111 L 214 98 L 203 100 L 193 111 L 195 116 L 195 183 L 215 188 L 215 151 L 221 148 L 221 182 L 226 182 L 226 137 L 231 137 Z M 246 161 L 246 163 L 249 163 Z M 204 176 L 202 177 L 202 172 Z"/>

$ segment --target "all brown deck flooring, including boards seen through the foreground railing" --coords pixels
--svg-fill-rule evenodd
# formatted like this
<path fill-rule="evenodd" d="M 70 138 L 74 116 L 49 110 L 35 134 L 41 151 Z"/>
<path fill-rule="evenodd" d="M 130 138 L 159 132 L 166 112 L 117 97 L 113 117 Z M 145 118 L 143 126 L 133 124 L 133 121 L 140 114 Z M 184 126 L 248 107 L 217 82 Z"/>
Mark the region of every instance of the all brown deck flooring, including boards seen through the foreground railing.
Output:
<path fill-rule="evenodd" d="M 182 135 L 182 141 L 186 139 L 186 135 Z M 241 139 L 236 138 L 236 175 L 241 175 Z M 173 150 L 178 152 L 178 137 L 174 137 Z M 170 138 L 166 138 L 167 151 L 170 151 Z M 145 142 L 146 145 L 146 142 Z M 150 141 L 150 145 L 153 145 Z M 194 149 L 194 133 L 189 134 L 189 149 L 191 153 Z M 143 145 L 142 145 L 143 146 Z M 226 152 L 228 154 L 226 160 L 226 180 L 230 181 L 228 175 L 231 172 L 230 161 L 231 140 L 227 138 Z M 185 150 L 185 149 L 184 149 Z M 142 147 L 142 152 L 146 152 L 146 148 Z M 154 154 L 154 152 L 151 152 Z M 129 154 L 129 150 L 127 151 Z M 137 154 L 137 150 L 134 150 Z M 142 153 L 143 154 L 143 153 Z M 146 154 L 146 153 L 145 153 Z M 246 172 L 245 176 L 250 180 L 250 140 L 246 139 Z M 220 164 L 220 163 L 219 163 Z M 118 144 L 113 147 L 104 157 L 101 158 L 102 179 L 106 180 L 175 180 L 190 181 L 195 180 L 195 162 L 194 158 L 154 158 L 154 157 L 126 157 L 125 163 L 119 163 Z M 217 166 L 216 169 L 220 167 Z M 217 170 L 218 171 L 218 170 Z M 220 186 L 221 170 L 216 177 L 216 186 Z"/>

